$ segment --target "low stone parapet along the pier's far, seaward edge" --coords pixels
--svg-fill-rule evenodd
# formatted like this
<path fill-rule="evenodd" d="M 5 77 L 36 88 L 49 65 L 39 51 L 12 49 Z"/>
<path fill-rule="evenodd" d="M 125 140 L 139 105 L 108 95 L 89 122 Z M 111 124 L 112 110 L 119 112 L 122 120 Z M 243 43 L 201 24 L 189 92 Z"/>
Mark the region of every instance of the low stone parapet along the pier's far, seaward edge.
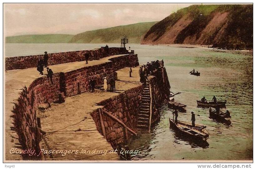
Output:
<path fill-rule="evenodd" d="M 93 50 L 80 50 L 62 53 L 48 54 L 48 64 L 55 65 L 61 63 L 69 63 L 76 61 L 84 61 L 85 53 L 89 53 L 90 60 L 98 60 L 107 56 L 116 54 L 128 54 L 126 48 L 109 48 L 108 52 L 105 48 Z M 5 58 L 5 70 L 27 69 L 37 67 L 38 58 L 43 58 L 43 54 L 32 56 L 14 56 Z"/>

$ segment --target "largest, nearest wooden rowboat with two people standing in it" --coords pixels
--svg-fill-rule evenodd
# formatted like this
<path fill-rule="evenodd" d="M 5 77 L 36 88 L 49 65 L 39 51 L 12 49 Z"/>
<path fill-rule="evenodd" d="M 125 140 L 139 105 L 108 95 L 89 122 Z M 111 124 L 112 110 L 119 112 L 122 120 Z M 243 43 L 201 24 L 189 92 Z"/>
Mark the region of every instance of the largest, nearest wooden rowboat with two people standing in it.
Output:
<path fill-rule="evenodd" d="M 170 126 L 172 126 L 174 129 L 177 129 L 181 134 L 185 134 L 191 138 L 196 139 L 197 141 L 206 141 L 209 138 L 209 132 L 205 129 L 197 129 L 195 127 L 190 127 L 189 125 L 186 125 L 184 123 L 180 123 L 179 121 L 175 123 L 175 120 L 169 119 Z"/>

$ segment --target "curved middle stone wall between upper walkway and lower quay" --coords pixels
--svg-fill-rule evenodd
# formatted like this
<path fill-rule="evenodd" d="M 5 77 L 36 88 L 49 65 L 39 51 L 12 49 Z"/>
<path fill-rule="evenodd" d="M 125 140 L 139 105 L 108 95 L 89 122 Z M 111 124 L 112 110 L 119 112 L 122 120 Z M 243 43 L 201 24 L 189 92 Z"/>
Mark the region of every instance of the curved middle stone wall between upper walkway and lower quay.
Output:
<path fill-rule="evenodd" d="M 28 88 L 24 87 L 12 110 L 14 118 L 12 130 L 17 132 L 21 148 L 23 150 L 32 148 L 36 153 L 40 152 L 39 142 L 42 134 L 37 127 L 37 107 L 40 104 L 58 101 L 59 94 L 63 97 L 76 95 L 79 93 L 78 86 L 80 86 L 80 92 L 85 92 L 89 88 L 91 78 L 96 79 L 96 85 L 102 85 L 104 76 L 113 75 L 121 68 L 138 66 L 139 63 L 136 60 L 138 58 L 134 54 L 118 56 L 111 58 L 107 63 L 66 73 L 55 73 L 53 84 L 46 76 L 42 76 L 35 79 Z M 23 154 L 23 159 L 37 160 L 38 157 Z"/>

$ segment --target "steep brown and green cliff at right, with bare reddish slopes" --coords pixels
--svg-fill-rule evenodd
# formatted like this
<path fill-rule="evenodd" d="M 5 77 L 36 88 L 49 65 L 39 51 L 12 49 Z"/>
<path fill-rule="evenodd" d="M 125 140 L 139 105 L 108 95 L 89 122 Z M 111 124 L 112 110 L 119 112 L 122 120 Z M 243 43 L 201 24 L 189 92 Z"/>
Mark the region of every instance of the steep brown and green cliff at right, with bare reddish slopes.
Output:
<path fill-rule="evenodd" d="M 153 25 L 141 44 L 253 48 L 253 5 L 192 5 Z"/>

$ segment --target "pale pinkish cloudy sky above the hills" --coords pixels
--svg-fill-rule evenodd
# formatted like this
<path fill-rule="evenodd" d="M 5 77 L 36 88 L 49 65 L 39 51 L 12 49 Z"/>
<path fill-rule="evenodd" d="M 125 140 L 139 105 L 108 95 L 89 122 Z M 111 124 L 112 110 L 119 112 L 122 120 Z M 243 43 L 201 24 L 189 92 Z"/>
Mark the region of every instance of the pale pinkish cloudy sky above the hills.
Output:
<path fill-rule="evenodd" d="M 77 34 L 112 26 L 160 21 L 190 5 L 5 3 L 5 35 Z"/>

